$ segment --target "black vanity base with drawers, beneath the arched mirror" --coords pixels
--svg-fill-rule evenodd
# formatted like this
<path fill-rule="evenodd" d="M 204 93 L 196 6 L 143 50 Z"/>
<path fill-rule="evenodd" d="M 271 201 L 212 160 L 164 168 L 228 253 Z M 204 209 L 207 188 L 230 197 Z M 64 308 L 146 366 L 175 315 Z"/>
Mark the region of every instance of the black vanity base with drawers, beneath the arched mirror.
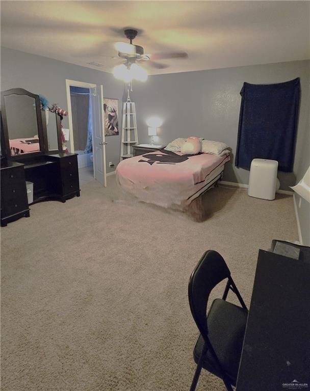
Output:
<path fill-rule="evenodd" d="M 26 181 L 33 183 L 33 202 L 28 204 Z M 1 161 L 1 226 L 29 217 L 29 205 L 41 201 L 66 200 L 80 196 L 77 155 L 43 155 L 23 163 Z"/>

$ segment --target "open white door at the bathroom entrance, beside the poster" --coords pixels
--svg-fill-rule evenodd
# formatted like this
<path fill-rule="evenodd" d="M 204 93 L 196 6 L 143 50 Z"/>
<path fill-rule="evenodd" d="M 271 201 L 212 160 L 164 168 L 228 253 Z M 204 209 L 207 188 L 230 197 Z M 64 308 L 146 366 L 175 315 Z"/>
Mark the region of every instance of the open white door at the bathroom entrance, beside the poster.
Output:
<path fill-rule="evenodd" d="M 103 114 L 103 86 L 100 86 L 100 94 L 97 88 L 91 88 L 91 109 L 93 118 L 93 163 L 94 177 L 105 187 L 107 186 L 106 173 L 106 142 Z M 102 110 L 102 111 L 101 111 Z"/>

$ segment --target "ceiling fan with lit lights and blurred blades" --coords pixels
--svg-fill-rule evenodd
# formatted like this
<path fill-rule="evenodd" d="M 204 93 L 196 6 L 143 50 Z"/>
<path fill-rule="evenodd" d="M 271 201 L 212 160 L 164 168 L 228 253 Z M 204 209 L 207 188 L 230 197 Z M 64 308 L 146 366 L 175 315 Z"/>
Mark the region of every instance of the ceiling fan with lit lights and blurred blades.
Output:
<path fill-rule="evenodd" d="M 124 59 L 125 63 L 114 67 L 113 74 L 116 78 L 126 82 L 130 82 L 132 79 L 140 81 L 147 79 L 147 72 L 138 65 L 139 63 L 147 62 L 153 68 L 164 69 L 168 68 L 169 65 L 153 60 L 184 59 L 188 57 L 186 52 L 146 54 L 142 46 L 133 44 L 133 40 L 138 35 L 137 30 L 125 29 L 124 34 L 130 43 L 116 42 L 114 47 L 118 51 L 118 57 Z"/>

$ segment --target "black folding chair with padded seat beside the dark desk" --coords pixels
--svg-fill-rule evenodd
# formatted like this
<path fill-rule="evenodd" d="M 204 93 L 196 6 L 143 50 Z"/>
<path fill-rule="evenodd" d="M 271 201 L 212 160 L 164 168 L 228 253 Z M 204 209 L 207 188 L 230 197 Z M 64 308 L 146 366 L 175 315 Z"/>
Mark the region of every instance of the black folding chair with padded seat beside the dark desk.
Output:
<path fill-rule="evenodd" d="M 206 315 L 212 289 L 228 278 L 222 299 L 215 299 Z M 226 301 L 229 289 L 238 297 L 241 307 Z M 219 253 L 209 250 L 193 270 L 188 296 L 190 308 L 200 331 L 194 347 L 197 368 L 190 391 L 194 391 L 201 368 L 221 378 L 227 390 L 233 390 L 243 345 L 248 310 Z"/>

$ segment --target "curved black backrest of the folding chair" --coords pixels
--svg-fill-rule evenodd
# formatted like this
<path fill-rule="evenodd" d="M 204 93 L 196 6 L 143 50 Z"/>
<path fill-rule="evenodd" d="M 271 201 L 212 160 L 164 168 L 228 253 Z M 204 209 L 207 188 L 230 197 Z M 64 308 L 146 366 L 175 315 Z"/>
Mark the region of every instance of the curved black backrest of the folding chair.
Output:
<path fill-rule="evenodd" d="M 208 335 L 206 306 L 212 289 L 225 278 L 230 271 L 222 256 L 214 250 L 206 251 L 193 270 L 188 285 L 188 297 L 193 318 L 200 333 Z"/>

